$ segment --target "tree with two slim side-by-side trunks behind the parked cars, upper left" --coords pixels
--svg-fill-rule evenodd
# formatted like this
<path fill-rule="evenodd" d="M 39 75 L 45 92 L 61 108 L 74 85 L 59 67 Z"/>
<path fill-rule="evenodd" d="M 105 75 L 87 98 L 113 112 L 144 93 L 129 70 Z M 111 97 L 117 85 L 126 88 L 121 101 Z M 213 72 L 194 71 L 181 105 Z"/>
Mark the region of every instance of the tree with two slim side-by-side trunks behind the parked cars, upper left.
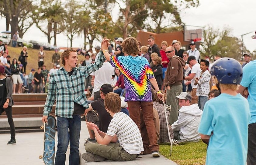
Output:
<path fill-rule="evenodd" d="M 50 43 L 54 37 L 54 45 L 57 42 L 57 34 L 62 32 L 64 8 L 60 0 L 41 0 L 41 4 L 33 13 L 33 21 L 37 28 L 47 35 L 47 41 Z"/>

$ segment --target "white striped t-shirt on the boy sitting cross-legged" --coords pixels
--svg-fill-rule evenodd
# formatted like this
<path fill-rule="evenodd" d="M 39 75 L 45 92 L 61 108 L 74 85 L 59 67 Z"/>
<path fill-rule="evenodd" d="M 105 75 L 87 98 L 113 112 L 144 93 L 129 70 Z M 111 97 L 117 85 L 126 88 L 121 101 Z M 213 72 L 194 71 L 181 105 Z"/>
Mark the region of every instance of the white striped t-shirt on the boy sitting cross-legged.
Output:
<path fill-rule="evenodd" d="M 114 114 L 106 133 L 117 136 L 120 146 L 130 154 L 139 154 L 143 150 L 140 130 L 133 120 L 123 112 Z"/>

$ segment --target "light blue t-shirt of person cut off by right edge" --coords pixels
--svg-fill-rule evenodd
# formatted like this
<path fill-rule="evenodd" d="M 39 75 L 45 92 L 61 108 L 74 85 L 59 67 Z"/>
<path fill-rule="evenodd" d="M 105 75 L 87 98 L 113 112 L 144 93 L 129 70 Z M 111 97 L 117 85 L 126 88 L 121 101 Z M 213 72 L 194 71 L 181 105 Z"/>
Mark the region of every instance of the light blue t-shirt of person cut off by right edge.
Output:
<path fill-rule="evenodd" d="M 244 74 L 240 85 L 248 87 L 249 96 L 247 98 L 250 105 L 250 124 L 256 123 L 256 60 L 250 61 L 243 68 Z"/>

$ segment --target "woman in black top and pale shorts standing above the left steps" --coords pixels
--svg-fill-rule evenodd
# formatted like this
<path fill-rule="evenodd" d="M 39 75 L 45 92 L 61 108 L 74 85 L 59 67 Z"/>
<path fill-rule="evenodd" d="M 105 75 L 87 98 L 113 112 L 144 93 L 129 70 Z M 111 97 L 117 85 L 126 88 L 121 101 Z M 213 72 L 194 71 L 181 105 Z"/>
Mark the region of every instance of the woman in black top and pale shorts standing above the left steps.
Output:
<path fill-rule="evenodd" d="M 13 93 L 15 93 L 16 85 L 18 84 L 18 82 L 19 82 L 18 93 L 20 93 L 20 89 L 22 87 L 22 79 L 19 75 L 20 68 L 16 58 L 13 58 L 10 68 L 12 71 Z"/>

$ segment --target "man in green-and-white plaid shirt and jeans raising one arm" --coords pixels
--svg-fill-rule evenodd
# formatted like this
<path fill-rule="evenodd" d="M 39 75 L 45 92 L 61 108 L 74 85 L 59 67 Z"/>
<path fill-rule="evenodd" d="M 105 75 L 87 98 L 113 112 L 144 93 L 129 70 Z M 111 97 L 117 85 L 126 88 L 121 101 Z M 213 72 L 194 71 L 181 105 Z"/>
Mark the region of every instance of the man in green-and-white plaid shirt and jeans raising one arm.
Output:
<path fill-rule="evenodd" d="M 76 68 L 78 62 L 76 51 L 74 49 L 66 49 L 61 54 L 61 62 L 64 67 L 50 75 L 42 121 L 47 122 L 47 117 L 56 101 L 55 114 L 57 116 L 58 149 L 55 165 L 65 164 L 69 142 L 69 164 L 79 165 L 80 115 L 84 114 L 85 109 L 89 107 L 84 93 L 85 78 L 93 71 L 98 70 L 104 61 L 106 59 L 101 51 L 95 63 L 86 67 Z"/>

